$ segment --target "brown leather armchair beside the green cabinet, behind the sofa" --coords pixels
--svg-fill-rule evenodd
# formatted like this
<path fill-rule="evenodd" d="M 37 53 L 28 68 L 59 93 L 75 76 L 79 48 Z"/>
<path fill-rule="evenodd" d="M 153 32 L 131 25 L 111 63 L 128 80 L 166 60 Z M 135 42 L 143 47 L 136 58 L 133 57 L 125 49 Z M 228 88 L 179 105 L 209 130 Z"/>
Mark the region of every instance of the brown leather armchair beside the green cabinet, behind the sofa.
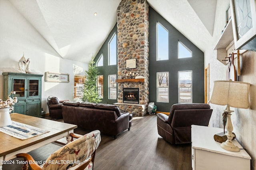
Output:
<path fill-rule="evenodd" d="M 47 104 L 49 113 L 52 119 L 62 119 L 62 103 L 70 100 L 59 100 L 57 97 L 49 96 L 47 98 Z"/>

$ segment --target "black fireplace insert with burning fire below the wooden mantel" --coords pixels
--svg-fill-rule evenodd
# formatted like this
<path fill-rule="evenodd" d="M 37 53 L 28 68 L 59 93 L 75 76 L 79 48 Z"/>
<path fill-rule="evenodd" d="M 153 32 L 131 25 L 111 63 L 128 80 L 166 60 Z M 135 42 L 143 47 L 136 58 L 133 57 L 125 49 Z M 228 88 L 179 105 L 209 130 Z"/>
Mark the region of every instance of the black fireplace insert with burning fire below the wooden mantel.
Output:
<path fill-rule="evenodd" d="M 123 88 L 123 102 L 139 104 L 139 88 Z"/>

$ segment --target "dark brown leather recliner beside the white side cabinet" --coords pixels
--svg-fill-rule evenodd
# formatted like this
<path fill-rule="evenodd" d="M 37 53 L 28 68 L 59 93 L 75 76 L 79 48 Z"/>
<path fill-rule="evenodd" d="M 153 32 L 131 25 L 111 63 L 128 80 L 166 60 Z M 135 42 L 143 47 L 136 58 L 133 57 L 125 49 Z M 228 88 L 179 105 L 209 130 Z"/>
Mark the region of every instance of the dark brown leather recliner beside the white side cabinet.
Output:
<path fill-rule="evenodd" d="M 174 104 L 170 115 L 157 113 L 158 134 L 171 144 L 191 143 L 191 125 L 208 126 L 208 104 Z"/>

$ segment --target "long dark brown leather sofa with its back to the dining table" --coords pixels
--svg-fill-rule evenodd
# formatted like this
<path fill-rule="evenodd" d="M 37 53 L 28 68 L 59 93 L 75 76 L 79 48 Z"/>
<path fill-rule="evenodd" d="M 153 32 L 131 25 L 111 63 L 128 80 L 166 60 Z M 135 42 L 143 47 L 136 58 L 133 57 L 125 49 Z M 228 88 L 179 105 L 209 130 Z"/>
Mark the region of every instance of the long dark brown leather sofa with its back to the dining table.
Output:
<path fill-rule="evenodd" d="M 132 114 L 121 113 L 112 104 L 95 104 L 89 102 L 63 102 L 63 121 L 78 125 L 88 130 L 99 130 L 101 133 L 116 136 L 132 126 Z"/>

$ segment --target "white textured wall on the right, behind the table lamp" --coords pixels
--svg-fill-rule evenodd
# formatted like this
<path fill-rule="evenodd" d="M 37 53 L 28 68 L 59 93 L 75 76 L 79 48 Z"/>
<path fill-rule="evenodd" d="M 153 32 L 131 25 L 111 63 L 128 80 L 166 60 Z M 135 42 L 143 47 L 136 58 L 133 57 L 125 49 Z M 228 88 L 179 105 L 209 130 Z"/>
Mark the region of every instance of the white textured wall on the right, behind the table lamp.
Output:
<path fill-rule="evenodd" d="M 205 51 L 205 66 L 210 64 L 210 94 L 215 80 L 226 80 L 227 65 L 222 64 L 216 58 L 216 51 L 214 47 L 220 38 L 221 31 L 225 26 L 225 12 L 228 7 L 229 0 L 218 0 L 216 7 L 216 16 L 214 23 L 214 33 L 212 37 L 212 44 L 209 45 Z M 248 154 L 252 157 L 252 169 L 256 170 L 256 52 L 248 51 L 240 56 L 241 75 L 238 76 L 238 81 L 248 82 L 250 86 L 250 109 L 234 110 L 231 119 L 234 126 L 233 132 L 236 134 L 236 139 L 240 141 L 241 145 L 246 149 Z M 237 68 L 237 60 L 234 61 Z M 218 106 L 210 104 L 213 109 L 210 126 L 222 127 L 222 113 L 226 106 Z"/>

